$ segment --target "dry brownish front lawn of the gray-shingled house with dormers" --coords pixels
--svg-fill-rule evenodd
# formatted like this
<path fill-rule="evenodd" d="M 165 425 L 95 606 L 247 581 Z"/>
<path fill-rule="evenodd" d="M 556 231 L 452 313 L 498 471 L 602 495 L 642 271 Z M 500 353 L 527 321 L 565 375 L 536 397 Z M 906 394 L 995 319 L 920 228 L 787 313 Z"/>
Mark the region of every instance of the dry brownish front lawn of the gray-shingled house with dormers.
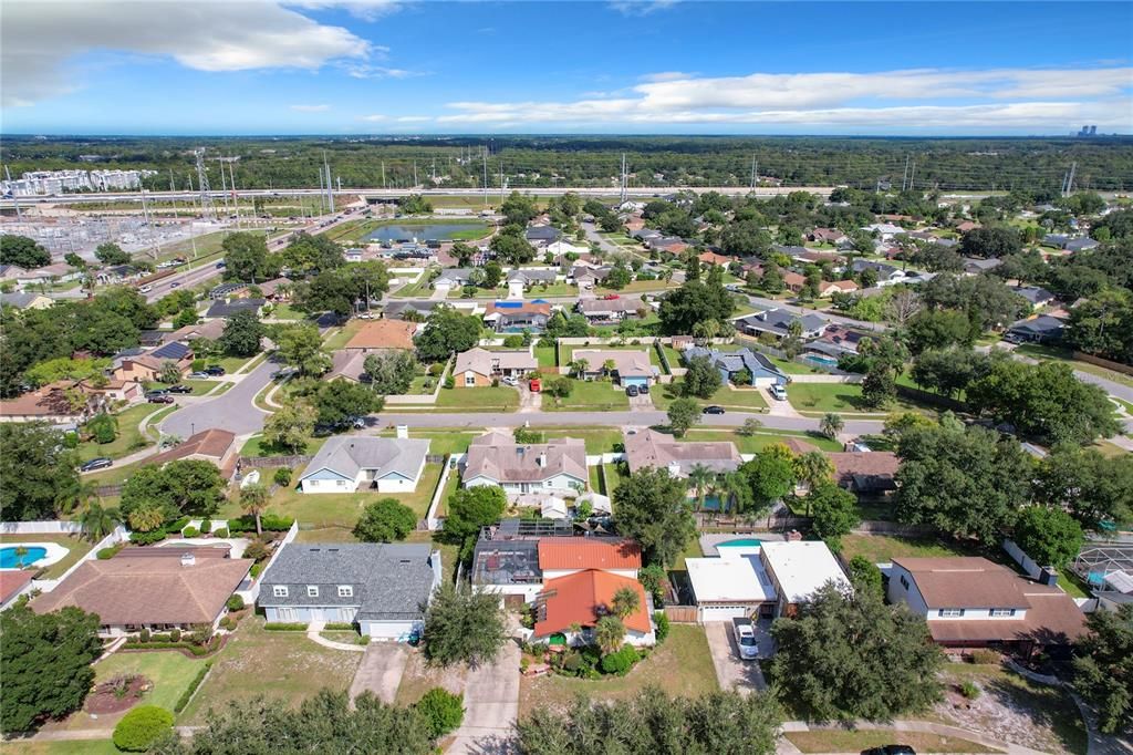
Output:
<path fill-rule="evenodd" d="M 265 631 L 263 625 L 257 616 L 240 621 L 182 713 L 184 722 L 205 723 L 210 709 L 223 712 L 258 695 L 295 707 L 324 687 L 349 688 L 361 653 L 323 647 L 300 631 Z"/>

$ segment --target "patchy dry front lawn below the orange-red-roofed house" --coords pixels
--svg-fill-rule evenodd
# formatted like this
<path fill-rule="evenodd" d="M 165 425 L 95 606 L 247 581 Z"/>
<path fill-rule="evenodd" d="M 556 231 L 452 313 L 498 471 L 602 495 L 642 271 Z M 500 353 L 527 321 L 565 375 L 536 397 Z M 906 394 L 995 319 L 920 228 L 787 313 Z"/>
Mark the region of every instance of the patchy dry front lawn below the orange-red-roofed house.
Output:
<path fill-rule="evenodd" d="M 636 695 L 647 686 L 659 687 L 670 695 L 684 697 L 696 697 L 719 689 L 702 627 L 673 625 L 665 642 L 624 677 L 611 676 L 595 680 L 559 675 L 521 677 L 519 714 L 525 716 L 548 706 L 563 710 L 579 694 L 596 701 L 622 699 Z"/>

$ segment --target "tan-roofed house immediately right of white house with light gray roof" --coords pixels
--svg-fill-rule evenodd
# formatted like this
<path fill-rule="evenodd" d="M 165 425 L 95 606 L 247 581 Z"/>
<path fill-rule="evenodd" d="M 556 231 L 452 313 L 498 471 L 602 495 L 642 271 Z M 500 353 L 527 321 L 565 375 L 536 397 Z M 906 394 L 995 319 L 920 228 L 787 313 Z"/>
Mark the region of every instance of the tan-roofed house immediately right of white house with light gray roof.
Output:
<path fill-rule="evenodd" d="M 511 435 L 487 433 L 472 440 L 465 457 L 465 487 L 497 485 L 506 493 L 586 490 L 586 444 L 563 438 L 546 443 L 517 443 Z"/>

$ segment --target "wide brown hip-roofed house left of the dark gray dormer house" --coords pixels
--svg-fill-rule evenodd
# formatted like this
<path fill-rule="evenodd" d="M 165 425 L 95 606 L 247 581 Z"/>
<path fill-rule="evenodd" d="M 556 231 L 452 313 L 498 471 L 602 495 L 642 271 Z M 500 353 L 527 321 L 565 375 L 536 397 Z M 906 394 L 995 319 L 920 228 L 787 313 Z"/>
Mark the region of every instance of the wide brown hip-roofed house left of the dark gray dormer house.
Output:
<path fill-rule="evenodd" d="M 252 559 L 229 558 L 227 546 L 127 548 L 112 559 L 83 561 L 31 609 L 49 613 L 75 606 L 95 613 L 99 636 L 107 638 L 144 629 L 215 629 L 252 565 Z"/>

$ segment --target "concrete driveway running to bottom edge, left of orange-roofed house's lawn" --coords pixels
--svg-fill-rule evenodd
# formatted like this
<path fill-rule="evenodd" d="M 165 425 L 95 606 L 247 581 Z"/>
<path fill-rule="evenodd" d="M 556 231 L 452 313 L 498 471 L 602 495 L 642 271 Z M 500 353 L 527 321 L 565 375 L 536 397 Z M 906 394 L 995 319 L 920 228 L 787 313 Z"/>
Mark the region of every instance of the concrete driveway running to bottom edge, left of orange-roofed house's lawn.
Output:
<path fill-rule="evenodd" d="M 519 718 L 519 645 L 509 639 L 495 661 L 474 669 L 465 685 L 465 722 L 449 755 L 514 753 Z"/>

